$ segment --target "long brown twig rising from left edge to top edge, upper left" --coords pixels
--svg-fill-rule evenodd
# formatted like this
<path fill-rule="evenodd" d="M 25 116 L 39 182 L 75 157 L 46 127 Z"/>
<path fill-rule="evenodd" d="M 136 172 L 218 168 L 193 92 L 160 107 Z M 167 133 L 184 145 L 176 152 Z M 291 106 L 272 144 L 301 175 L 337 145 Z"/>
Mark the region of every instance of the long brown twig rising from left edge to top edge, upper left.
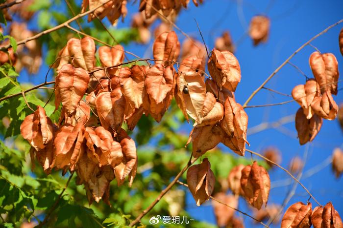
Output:
<path fill-rule="evenodd" d="M 82 18 L 83 16 L 86 16 L 86 15 L 88 15 L 88 14 L 90 14 L 90 13 L 93 13 L 94 11 L 96 11 L 98 8 L 102 7 L 103 5 L 105 5 L 105 4 L 106 4 L 107 2 L 109 2 L 109 1 L 111 1 L 111 0 L 107 0 L 107 1 L 105 1 L 105 2 L 103 2 L 103 3 L 101 3 L 100 5 L 98 5 L 97 7 L 93 8 L 93 9 L 91 9 L 91 10 L 88 10 L 88 11 L 82 13 L 82 14 L 78 14 L 78 15 L 76 15 L 75 17 L 69 19 L 68 21 L 65 21 L 65 22 L 63 22 L 63 23 L 61 23 L 61 24 L 59 24 L 59 25 L 57 25 L 57 26 L 55 26 L 55 27 L 53 27 L 53 28 L 49 28 L 49 29 L 47 29 L 47 30 L 44 30 L 44 31 L 42 31 L 42 32 L 40 32 L 40 33 L 37 33 L 36 35 L 34 35 L 34 36 L 32 36 L 32 37 L 26 38 L 25 40 L 18 41 L 18 42 L 17 42 L 17 45 L 25 44 L 25 43 L 28 42 L 28 41 L 32 41 L 32 40 L 38 39 L 38 38 L 40 38 L 40 37 L 43 36 L 43 35 L 49 34 L 50 32 L 56 31 L 56 30 L 58 30 L 58 29 L 60 29 L 60 28 L 66 27 L 67 24 L 69 24 L 69 23 L 71 23 L 71 22 L 73 22 L 73 21 L 75 21 L 75 20 L 77 20 L 77 19 L 79 19 L 79 18 Z M 8 44 L 8 45 L 5 45 L 5 46 L 1 47 L 0 50 L 1 50 L 1 51 L 6 51 L 6 50 L 7 50 L 8 48 L 10 48 L 10 47 L 11 47 L 11 44 Z"/>

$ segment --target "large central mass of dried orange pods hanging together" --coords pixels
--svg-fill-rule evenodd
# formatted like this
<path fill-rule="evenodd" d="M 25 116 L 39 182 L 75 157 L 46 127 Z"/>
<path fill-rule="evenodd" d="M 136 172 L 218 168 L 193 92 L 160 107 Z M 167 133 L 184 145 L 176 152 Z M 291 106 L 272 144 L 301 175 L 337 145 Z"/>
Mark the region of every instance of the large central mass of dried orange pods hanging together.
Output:
<path fill-rule="evenodd" d="M 91 38 L 70 39 L 53 66 L 55 110 L 62 104 L 58 123 L 38 107 L 21 126 L 32 161 L 36 157 L 47 173 L 53 168 L 76 171 L 90 203 L 109 203 L 109 183 L 116 179 L 122 185 L 128 177 L 131 186 L 137 170 L 136 146 L 123 123 L 133 130 L 144 114 L 160 122 L 173 97 L 185 118 L 195 122 L 188 142 L 193 142 L 195 157 L 219 142 L 243 156 L 247 115 L 233 94 L 241 79 L 238 60 L 214 49 L 208 62 L 212 79 L 205 79 L 205 52 L 198 44 L 185 45 L 178 69 L 174 65 L 181 48 L 173 31 L 156 38 L 152 66 L 123 67 L 121 45 L 101 46 L 99 67 Z M 27 129 L 34 131 L 28 134 Z"/>

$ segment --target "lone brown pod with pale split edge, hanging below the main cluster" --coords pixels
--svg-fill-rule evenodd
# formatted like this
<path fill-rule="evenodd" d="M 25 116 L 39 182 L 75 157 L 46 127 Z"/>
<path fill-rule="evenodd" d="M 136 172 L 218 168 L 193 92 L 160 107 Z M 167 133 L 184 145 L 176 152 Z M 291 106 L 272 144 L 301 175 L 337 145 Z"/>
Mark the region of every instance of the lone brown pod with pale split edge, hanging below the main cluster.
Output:
<path fill-rule="evenodd" d="M 187 170 L 187 184 L 196 200 L 196 206 L 200 206 L 210 199 L 215 181 L 211 164 L 207 158 L 204 158 L 201 164 L 191 166 Z"/>

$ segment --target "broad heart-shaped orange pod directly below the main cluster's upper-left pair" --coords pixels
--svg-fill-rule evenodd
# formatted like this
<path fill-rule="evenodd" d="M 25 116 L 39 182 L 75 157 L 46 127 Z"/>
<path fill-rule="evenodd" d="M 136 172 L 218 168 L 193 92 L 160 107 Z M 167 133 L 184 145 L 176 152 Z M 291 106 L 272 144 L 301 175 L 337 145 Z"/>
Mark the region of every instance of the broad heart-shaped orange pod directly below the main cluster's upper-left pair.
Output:
<path fill-rule="evenodd" d="M 55 78 L 55 108 L 60 102 L 68 117 L 75 115 L 76 108 L 87 90 L 89 75 L 82 68 L 65 64 Z"/>

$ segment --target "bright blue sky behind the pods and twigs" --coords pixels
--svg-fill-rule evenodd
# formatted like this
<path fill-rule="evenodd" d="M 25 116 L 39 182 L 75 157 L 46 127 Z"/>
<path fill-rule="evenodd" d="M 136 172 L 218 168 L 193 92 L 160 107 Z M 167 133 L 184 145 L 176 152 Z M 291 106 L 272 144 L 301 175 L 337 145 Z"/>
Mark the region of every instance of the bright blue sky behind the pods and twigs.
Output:
<path fill-rule="evenodd" d="M 240 5 L 232 0 L 204 0 L 205 3 L 195 7 L 191 2 L 187 10 L 183 10 L 178 20 L 177 26 L 187 34 L 200 39 L 194 19 L 197 20 L 201 31 L 204 35 L 206 44 L 209 49 L 213 48 L 214 40 L 220 36 L 223 30 L 229 30 L 233 41 L 241 42 L 236 48 L 235 55 L 240 62 L 242 69 L 242 81 L 236 90 L 236 100 L 243 104 L 251 92 L 255 90 L 270 73 L 285 61 L 299 46 L 327 26 L 343 18 L 343 1 L 342 0 L 244 0 Z M 128 4 L 129 16 L 132 12 L 137 12 L 138 3 Z M 252 16 L 266 13 L 271 20 L 270 37 L 266 44 L 254 47 L 252 41 L 245 36 L 247 25 Z M 130 18 L 127 17 L 124 23 L 119 23 L 118 27 L 126 27 L 130 24 Z M 34 25 L 33 25 L 34 26 Z M 339 62 L 339 71 L 343 72 L 343 57 L 339 52 L 338 34 L 342 29 L 340 24 L 327 33 L 312 42 L 321 52 L 333 53 Z M 176 31 L 180 40 L 185 37 Z M 139 56 L 144 56 L 146 46 L 130 44 L 125 47 L 126 50 L 132 51 Z M 311 46 L 306 46 L 291 60 L 297 65 L 308 77 L 312 78 L 312 72 L 309 67 L 308 58 L 315 51 Z M 41 83 L 44 81 L 47 66 L 40 70 L 41 77 L 27 77 L 21 74 L 21 82 Z M 341 77 L 342 78 L 342 77 Z M 268 88 L 291 94 L 292 88 L 297 84 L 305 83 L 305 77 L 299 74 L 294 67 L 287 64 L 275 77 L 266 85 Z M 343 85 L 339 83 L 339 88 Z M 340 91 L 334 99 L 337 104 L 343 103 L 343 91 Z M 271 94 L 267 90 L 261 90 L 249 103 L 250 105 L 279 103 L 290 100 L 278 94 Z M 288 115 L 295 114 L 299 105 L 295 102 L 263 108 L 248 108 L 246 112 L 249 116 L 248 127 L 255 126 L 262 122 L 273 122 Z M 323 121 L 319 134 L 313 143 L 308 145 L 308 156 L 304 171 L 311 167 L 321 164 L 325 159 L 331 156 L 335 147 L 342 147 L 343 131 L 340 129 L 338 121 Z M 303 156 L 306 145 L 300 146 L 296 139 L 294 123 L 285 124 L 281 129 L 269 129 L 258 134 L 248 136 L 250 143 L 249 149 L 260 152 L 264 147 L 273 145 L 282 152 L 281 165 L 287 167 L 292 157 Z M 229 152 L 229 149 L 225 149 Z M 250 156 L 250 155 L 246 155 Z M 280 170 L 275 169 L 270 172 L 272 183 L 277 180 L 288 179 L 288 175 Z M 343 185 L 342 179 L 336 180 L 331 166 L 326 166 L 320 172 L 309 178 L 301 180 L 308 187 L 311 193 L 324 205 L 329 201 L 333 202 L 334 207 L 343 215 Z M 281 204 L 289 186 L 273 188 L 270 191 L 269 203 Z M 309 196 L 301 188 L 297 187 L 294 197 L 288 205 L 302 201 L 306 203 Z M 311 200 L 313 206 L 317 206 Z M 215 223 L 212 213 L 212 207 L 192 207 L 194 200 L 187 197 L 189 212 L 198 220 L 205 220 Z M 246 204 L 240 201 L 240 209 L 247 211 Z M 249 227 L 250 219 L 245 218 L 245 225 Z"/>

